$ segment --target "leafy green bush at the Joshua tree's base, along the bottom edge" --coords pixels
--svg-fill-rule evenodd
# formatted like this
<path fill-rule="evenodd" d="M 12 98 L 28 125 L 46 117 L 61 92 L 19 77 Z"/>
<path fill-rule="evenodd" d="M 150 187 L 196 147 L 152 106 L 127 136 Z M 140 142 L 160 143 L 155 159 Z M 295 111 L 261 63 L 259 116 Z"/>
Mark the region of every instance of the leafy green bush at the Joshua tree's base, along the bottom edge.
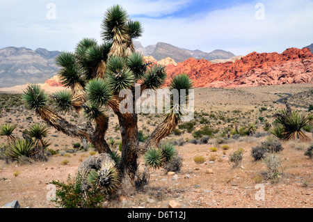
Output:
<path fill-rule="evenodd" d="M 81 191 L 83 177 L 77 174 L 74 180 L 70 175 L 67 183 L 52 181 L 56 185 L 56 199 L 52 200 L 58 207 L 63 208 L 95 208 L 104 200 L 104 194 L 101 189 L 93 187 L 87 191 Z"/>

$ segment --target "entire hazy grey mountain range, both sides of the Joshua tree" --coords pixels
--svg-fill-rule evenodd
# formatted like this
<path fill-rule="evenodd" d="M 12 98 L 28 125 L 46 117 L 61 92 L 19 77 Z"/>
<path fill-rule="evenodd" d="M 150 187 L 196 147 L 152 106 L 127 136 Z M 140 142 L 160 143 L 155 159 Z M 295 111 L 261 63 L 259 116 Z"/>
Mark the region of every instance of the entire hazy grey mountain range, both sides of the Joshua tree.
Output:
<path fill-rule="evenodd" d="M 235 56 L 230 51 L 217 49 L 209 53 L 200 50 L 182 49 L 167 43 L 158 42 L 156 45 L 143 47 L 141 42 L 134 42 L 136 51 L 144 56 L 152 56 L 157 61 L 172 58 L 176 63 L 182 63 L 188 58 L 204 58 L 212 63 L 234 61 L 241 56 Z M 313 52 L 313 44 L 307 46 Z M 60 51 L 47 49 L 27 49 L 26 47 L 6 47 L 0 49 L 0 88 L 18 86 L 27 83 L 44 83 L 47 79 L 58 74 L 55 58 Z"/>

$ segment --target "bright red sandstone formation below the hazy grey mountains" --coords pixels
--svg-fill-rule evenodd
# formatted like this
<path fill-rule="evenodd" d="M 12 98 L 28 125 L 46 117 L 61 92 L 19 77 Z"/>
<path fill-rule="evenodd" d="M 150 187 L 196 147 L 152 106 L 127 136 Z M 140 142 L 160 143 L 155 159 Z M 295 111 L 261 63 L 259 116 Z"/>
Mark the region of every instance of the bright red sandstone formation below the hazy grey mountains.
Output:
<path fill-rule="evenodd" d="M 152 56 L 145 57 L 145 61 L 160 63 Z M 290 48 L 282 54 L 259 54 L 254 51 L 226 63 L 211 63 L 203 58 L 189 58 L 177 65 L 166 58 L 161 63 L 166 65 L 168 73 L 166 86 L 175 74 L 182 73 L 191 77 L 195 88 L 313 83 L 313 54 L 307 48 Z M 46 84 L 62 86 L 58 78 L 54 77 L 47 80 Z"/>

